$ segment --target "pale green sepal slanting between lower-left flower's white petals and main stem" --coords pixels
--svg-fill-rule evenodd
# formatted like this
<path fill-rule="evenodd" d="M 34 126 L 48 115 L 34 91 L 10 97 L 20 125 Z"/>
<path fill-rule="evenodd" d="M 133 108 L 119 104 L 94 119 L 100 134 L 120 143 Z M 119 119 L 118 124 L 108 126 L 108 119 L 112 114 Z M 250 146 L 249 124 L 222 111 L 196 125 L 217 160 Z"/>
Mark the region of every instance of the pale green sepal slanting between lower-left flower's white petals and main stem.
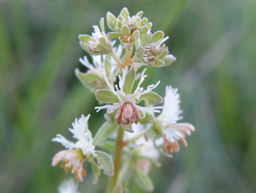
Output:
<path fill-rule="evenodd" d="M 118 124 L 109 124 L 108 122 L 103 123 L 93 138 L 93 144 L 96 146 L 103 142 L 112 135 L 117 128 Z"/>

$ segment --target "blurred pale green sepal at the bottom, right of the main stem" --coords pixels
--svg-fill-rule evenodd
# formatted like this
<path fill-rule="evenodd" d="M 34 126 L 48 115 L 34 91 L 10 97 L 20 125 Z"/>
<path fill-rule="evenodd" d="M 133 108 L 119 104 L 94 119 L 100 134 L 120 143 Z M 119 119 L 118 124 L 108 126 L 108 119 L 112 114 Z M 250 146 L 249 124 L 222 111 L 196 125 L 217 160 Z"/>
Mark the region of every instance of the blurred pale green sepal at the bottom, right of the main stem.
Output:
<path fill-rule="evenodd" d="M 139 169 L 137 166 L 134 171 L 133 177 L 135 183 L 147 192 L 152 192 L 154 190 L 154 185 L 148 174 L 144 173 L 142 170 Z"/>

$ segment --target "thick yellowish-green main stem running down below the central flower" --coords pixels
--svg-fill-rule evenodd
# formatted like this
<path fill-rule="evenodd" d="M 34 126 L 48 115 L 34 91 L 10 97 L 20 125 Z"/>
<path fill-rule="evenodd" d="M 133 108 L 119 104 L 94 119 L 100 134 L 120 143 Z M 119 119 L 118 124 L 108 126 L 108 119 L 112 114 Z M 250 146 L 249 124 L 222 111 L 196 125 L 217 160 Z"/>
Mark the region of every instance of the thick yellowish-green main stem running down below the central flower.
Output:
<path fill-rule="evenodd" d="M 118 173 L 121 167 L 122 162 L 122 152 L 123 152 L 123 128 L 119 127 L 116 142 L 115 142 L 115 152 L 114 152 L 114 175 L 113 177 L 109 178 L 108 185 L 107 185 L 107 193 L 111 193 L 113 188 L 116 185 Z"/>

